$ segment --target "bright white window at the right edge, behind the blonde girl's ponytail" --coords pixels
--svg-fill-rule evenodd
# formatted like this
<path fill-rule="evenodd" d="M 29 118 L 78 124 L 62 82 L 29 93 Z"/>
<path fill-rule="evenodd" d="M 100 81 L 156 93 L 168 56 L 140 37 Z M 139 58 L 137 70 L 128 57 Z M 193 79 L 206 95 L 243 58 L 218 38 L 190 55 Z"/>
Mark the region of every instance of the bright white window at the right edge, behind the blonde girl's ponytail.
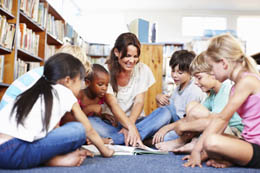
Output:
<path fill-rule="evenodd" d="M 239 17 L 237 19 L 238 37 L 246 41 L 246 53 L 260 52 L 260 17 Z"/>

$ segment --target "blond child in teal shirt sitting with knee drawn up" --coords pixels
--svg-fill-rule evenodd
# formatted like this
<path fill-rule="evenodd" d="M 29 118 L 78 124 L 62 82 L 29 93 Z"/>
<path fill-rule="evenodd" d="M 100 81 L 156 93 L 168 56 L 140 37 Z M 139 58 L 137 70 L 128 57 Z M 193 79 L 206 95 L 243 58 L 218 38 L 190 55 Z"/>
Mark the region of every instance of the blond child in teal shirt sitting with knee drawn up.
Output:
<path fill-rule="evenodd" d="M 197 138 L 194 137 L 198 132 L 205 130 L 210 123 L 212 116 L 210 113 L 219 113 L 227 104 L 230 89 L 232 87 L 231 81 L 226 80 L 221 83 L 212 75 L 211 67 L 204 60 L 205 52 L 198 55 L 190 65 L 190 71 L 195 77 L 195 83 L 202 91 L 208 92 L 209 96 L 200 104 L 198 102 L 191 102 L 188 104 L 186 113 L 187 116 L 178 121 L 174 130 L 180 136 L 176 140 L 168 143 L 168 149 L 173 152 L 191 152 Z M 232 129 L 232 131 L 230 130 Z M 240 136 L 243 130 L 241 118 L 235 113 L 229 121 L 229 126 L 225 133 Z M 187 135 L 185 132 L 193 132 Z M 192 139 L 192 142 L 184 145 Z M 184 145 L 184 146 L 183 146 Z"/>

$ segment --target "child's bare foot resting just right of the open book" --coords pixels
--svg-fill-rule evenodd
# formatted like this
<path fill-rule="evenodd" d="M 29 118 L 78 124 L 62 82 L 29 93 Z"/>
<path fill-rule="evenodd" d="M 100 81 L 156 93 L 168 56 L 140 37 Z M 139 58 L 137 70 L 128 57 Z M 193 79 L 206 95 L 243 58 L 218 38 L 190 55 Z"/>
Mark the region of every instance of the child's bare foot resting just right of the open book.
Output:
<path fill-rule="evenodd" d="M 176 148 L 179 148 L 184 145 L 184 142 L 178 138 L 172 141 L 160 142 L 155 144 L 155 147 L 162 151 L 173 151 Z"/>

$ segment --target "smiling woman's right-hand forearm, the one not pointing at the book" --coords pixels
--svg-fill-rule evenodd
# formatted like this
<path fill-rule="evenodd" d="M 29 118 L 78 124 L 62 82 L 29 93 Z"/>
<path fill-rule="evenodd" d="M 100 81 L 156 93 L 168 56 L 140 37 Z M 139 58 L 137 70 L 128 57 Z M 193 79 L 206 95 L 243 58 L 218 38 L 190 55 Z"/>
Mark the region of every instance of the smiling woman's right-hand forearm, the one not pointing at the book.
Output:
<path fill-rule="evenodd" d="M 145 92 L 138 94 L 135 97 L 134 105 L 131 110 L 131 114 L 129 119 L 135 124 L 136 120 L 140 116 L 140 114 L 143 111 L 144 108 L 144 97 L 145 97 Z"/>

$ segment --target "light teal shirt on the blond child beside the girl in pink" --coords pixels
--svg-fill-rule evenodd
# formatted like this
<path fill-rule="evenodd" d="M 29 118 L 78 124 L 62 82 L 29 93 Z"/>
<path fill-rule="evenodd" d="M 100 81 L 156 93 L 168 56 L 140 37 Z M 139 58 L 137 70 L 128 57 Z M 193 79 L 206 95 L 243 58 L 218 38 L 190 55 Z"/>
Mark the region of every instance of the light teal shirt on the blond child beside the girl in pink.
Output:
<path fill-rule="evenodd" d="M 220 113 L 226 106 L 232 83 L 230 80 L 226 80 L 221 84 L 218 93 L 211 90 L 210 95 L 205 99 L 203 105 L 209 109 L 212 113 Z M 229 121 L 230 127 L 236 127 L 239 131 L 243 130 L 243 124 L 240 116 L 235 113 Z"/>

